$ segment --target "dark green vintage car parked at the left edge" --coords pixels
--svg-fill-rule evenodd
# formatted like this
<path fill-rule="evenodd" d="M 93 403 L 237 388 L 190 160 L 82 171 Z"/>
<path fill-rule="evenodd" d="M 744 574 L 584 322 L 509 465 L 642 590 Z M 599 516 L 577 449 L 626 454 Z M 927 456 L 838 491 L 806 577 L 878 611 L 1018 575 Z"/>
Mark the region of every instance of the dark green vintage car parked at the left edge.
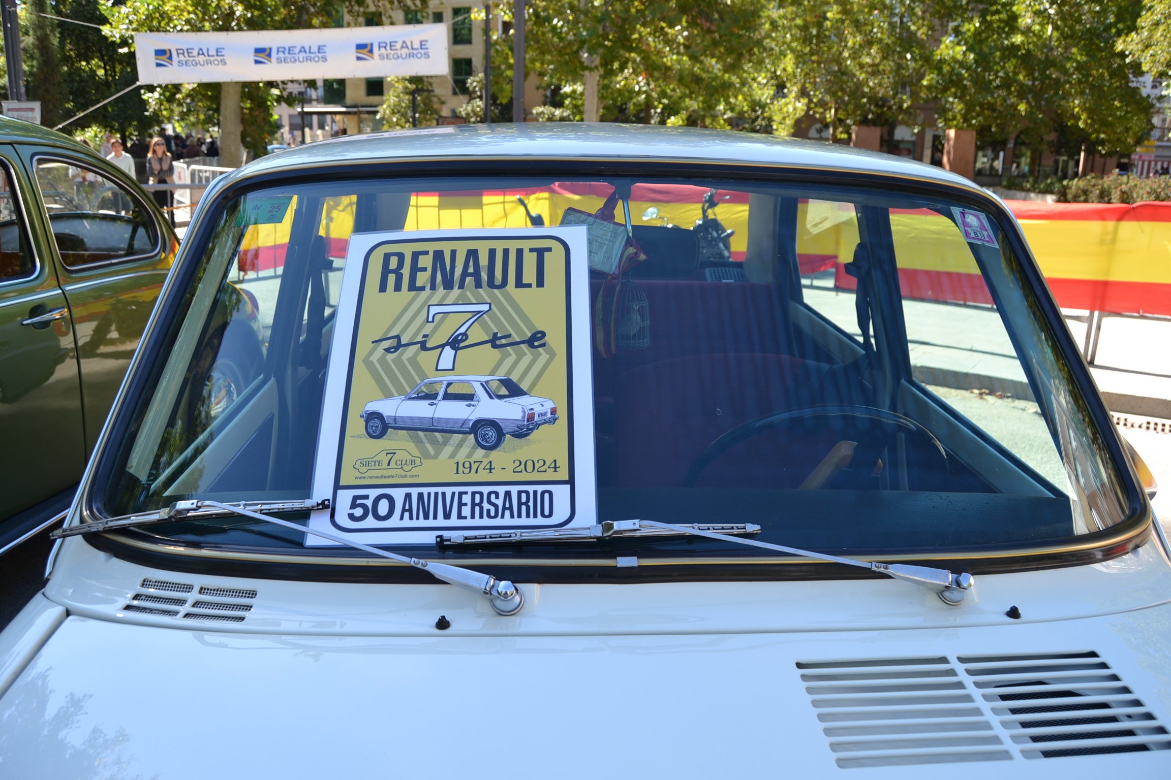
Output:
<path fill-rule="evenodd" d="M 68 508 L 177 246 L 123 171 L 0 117 L 0 554 Z"/>

